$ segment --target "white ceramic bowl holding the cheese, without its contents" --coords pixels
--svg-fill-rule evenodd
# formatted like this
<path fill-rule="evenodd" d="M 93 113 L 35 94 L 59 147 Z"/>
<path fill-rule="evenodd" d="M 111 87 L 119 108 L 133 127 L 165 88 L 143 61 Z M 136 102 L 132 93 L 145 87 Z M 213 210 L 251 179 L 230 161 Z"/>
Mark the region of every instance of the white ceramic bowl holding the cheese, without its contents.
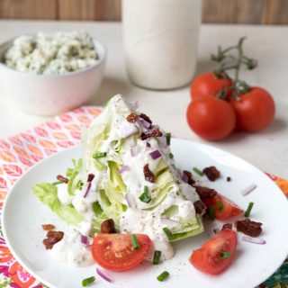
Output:
<path fill-rule="evenodd" d="M 106 49 L 94 40 L 99 59 L 92 67 L 65 75 L 34 75 L 6 67 L 4 53 L 13 44 L 0 45 L 0 86 L 24 112 L 55 115 L 85 103 L 97 93 L 103 79 Z"/>

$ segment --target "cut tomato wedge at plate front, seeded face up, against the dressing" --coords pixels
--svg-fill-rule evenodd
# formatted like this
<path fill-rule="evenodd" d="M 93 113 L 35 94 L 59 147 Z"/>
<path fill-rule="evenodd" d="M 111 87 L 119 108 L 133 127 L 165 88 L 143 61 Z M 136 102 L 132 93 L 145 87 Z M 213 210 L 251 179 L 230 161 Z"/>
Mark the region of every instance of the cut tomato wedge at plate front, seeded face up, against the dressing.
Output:
<path fill-rule="evenodd" d="M 151 240 L 147 235 L 135 234 L 139 248 L 132 246 L 130 234 L 97 234 L 91 247 L 94 260 L 112 271 L 129 270 L 138 266 L 148 255 Z"/>

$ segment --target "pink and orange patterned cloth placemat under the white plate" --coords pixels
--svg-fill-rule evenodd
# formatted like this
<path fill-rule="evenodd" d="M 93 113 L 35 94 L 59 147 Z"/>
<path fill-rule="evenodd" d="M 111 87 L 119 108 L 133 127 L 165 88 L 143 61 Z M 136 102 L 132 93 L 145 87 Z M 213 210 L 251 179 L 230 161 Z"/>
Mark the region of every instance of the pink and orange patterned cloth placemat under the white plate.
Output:
<path fill-rule="evenodd" d="M 19 135 L 0 140 L 0 213 L 5 195 L 15 181 L 41 159 L 79 144 L 82 127 L 101 111 L 102 108 L 96 106 L 77 108 Z M 288 181 L 269 176 L 288 196 Z M 4 287 L 41 288 L 45 285 L 18 264 L 5 244 L 0 227 L 0 288 Z M 261 287 L 288 288 L 288 263 L 284 263 Z"/>

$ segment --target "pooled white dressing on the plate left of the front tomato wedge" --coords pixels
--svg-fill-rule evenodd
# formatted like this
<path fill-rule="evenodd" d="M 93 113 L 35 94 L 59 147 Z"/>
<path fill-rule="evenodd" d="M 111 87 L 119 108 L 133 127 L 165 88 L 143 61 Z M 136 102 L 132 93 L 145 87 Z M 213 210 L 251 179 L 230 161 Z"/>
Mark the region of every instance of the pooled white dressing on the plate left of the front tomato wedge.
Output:
<path fill-rule="evenodd" d="M 83 267 L 94 264 L 90 247 L 81 243 L 81 234 L 76 230 L 64 233 L 63 239 L 56 243 L 49 253 L 58 262 L 70 266 Z"/>

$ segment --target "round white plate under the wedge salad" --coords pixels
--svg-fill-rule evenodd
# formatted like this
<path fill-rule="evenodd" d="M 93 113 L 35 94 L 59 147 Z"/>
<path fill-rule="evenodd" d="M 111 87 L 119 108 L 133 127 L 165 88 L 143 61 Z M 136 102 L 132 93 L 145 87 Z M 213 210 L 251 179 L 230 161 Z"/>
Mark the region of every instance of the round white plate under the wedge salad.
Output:
<path fill-rule="evenodd" d="M 215 165 L 222 174 L 221 179 L 211 184 L 217 191 L 227 195 L 243 209 L 248 202 L 255 202 L 253 220 L 264 223 L 262 238 L 266 245 L 241 241 L 238 234 L 238 255 L 228 271 L 219 276 L 204 275 L 188 262 L 192 251 L 200 247 L 211 235 L 211 228 L 193 238 L 175 244 L 175 257 L 158 266 L 144 263 L 124 273 L 107 272 L 114 281 L 113 287 L 176 287 L 187 285 L 201 288 L 253 288 L 262 283 L 283 263 L 288 254 L 288 205 L 284 194 L 263 172 L 238 157 L 218 148 L 193 143 L 183 139 L 172 140 L 172 151 L 178 166 L 192 169 Z M 253 151 L 251 150 L 251 153 Z M 75 268 L 58 264 L 49 258 L 42 245 L 45 232 L 41 224 L 54 223 L 58 228 L 63 223 L 31 193 L 31 185 L 55 181 L 55 176 L 64 174 L 71 159 L 81 156 L 81 148 L 70 148 L 41 161 L 14 185 L 9 193 L 3 211 L 4 238 L 16 259 L 31 273 L 50 288 L 79 288 L 81 281 L 95 275 L 95 266 Z M 227 182 L 226 176 L 232 181 Z M 202 177 L 204 178 L 204 177 Z M 247 196 L 240 191 L 249 184 L 257 189 Z M 216 223 L 220 227 L 220 223 Z M 165 283 L 157 282 L 162 271 L 170 272 Z M 112 287 L 97 276 L 94 287 Z"/>

